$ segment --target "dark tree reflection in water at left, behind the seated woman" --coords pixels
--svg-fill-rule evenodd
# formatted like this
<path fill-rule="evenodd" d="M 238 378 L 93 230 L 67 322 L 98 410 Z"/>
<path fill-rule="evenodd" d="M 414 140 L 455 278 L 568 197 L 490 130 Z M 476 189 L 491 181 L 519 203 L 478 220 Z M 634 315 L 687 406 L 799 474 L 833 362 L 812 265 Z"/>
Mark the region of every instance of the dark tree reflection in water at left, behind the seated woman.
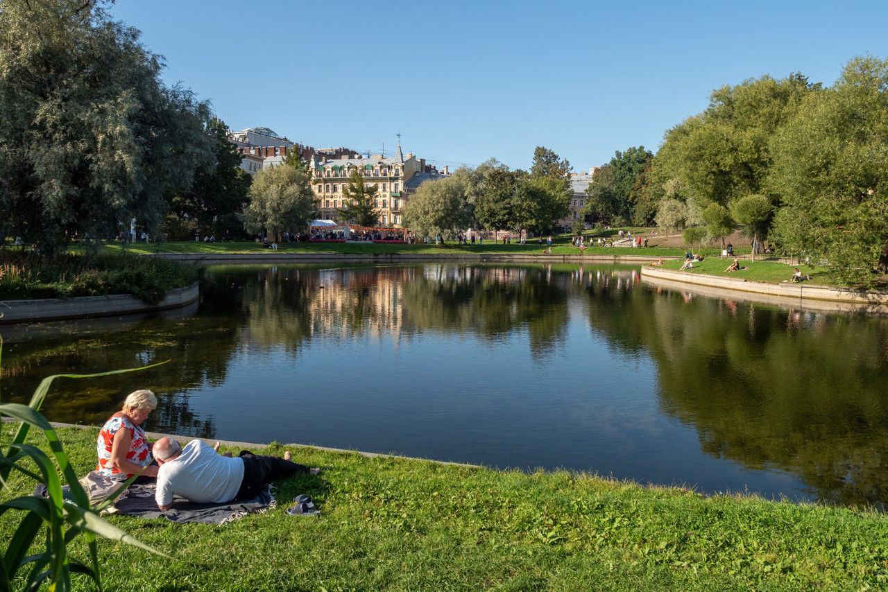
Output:
<path fill-rule="evenodd" d="M 210 310 L 193 319 L 146 320 L 84 339 L 59 335 L 50 341 L 13 344 L 4 350 L 4 400 L 27 402 L 46 375 L 92 374 L 169 359 L 163 366 L 135 373 L 58 379 L 43 411 L 53 421 L 101 425 L 120 409 L 129 392 L 150 388 L 158 395 L 159 407 L 145 423 L 148 430 L 211 437 L 212 419 L 195 417 L 185 394 L 204 383 L 225 381 L 239 322 L 228 311 L 217 316 Z"/>

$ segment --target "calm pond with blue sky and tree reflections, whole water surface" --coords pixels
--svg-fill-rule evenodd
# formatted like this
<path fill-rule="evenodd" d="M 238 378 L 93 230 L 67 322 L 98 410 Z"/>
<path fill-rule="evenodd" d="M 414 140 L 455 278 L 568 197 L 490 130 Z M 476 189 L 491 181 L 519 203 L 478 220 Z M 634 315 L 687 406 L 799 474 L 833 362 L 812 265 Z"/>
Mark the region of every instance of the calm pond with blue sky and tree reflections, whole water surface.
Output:
<path fill-rule="evenodd" d="M 610 265 L 213 267 L 199 308 L 0 328 L 4 400 L 100 425 L 703 493 L 888 501 L 886 320 L 651 288 Z"/>

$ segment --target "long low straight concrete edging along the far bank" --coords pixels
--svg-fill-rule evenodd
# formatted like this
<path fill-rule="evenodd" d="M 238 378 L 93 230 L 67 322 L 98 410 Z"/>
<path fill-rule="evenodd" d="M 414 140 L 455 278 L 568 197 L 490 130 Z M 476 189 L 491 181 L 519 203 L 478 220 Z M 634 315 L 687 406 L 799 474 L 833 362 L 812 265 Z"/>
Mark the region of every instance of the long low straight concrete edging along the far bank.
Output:
<path fill-rule="evenodd" d="M 653 255 L 543 255 L 535 253 L 480 254 L 421 254 L 421 253 L 158 253 L 156 256 L 172 261 L 202 265 L 249 264 L 302 264 L 302 263 L 596 263 L 640 265 L 656 261 Z M 675 259 L 678 257 L 662 257 Z"/>

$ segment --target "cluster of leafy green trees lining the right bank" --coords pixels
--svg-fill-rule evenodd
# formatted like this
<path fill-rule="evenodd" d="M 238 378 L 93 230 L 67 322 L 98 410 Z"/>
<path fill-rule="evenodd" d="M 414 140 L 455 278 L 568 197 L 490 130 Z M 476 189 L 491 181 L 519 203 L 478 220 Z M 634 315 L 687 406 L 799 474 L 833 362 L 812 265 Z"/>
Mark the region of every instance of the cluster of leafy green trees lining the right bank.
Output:
<path fill-rule="evenodd" d="M 587 219 L 750 240 L 828 265 L 848 283 L 888 272 L 888 60 L 844 65 L 830 87 L 794 73 L 725 85 L 667 130 L 656 154 L 632 147 L 588 190 Z"/>

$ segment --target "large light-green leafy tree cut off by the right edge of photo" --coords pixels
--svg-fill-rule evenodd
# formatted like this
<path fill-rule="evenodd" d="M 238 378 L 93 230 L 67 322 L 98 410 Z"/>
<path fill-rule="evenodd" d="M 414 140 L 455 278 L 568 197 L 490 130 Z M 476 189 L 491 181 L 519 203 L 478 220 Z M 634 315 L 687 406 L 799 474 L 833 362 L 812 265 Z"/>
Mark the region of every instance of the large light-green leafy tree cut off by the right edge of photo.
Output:
<path fill-rule="evenodd" d="M 888 272 L 888 60 L 848 62 L 832 88 L 805 97 L 771 149 L 776 234 L 801 235 L 795 246 L 847 282 Z"/>

